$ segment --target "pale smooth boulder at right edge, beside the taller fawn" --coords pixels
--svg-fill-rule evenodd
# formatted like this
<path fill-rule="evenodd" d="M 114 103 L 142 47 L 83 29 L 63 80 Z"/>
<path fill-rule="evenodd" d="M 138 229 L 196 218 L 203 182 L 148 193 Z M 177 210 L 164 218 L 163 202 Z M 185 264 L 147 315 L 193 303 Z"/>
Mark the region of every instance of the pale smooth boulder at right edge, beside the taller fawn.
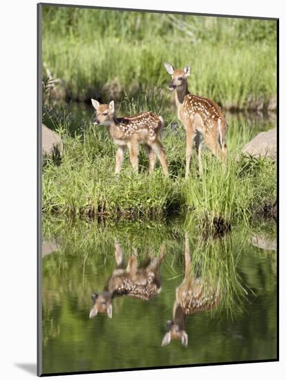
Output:
<path fill-rule="evenodd" d="M 242 153 L 253 155 L 254 157 L 271 158 L 276 161 L 276 133 L 276 128 L 258 133 L 254 139 L 243 147 Z"/>

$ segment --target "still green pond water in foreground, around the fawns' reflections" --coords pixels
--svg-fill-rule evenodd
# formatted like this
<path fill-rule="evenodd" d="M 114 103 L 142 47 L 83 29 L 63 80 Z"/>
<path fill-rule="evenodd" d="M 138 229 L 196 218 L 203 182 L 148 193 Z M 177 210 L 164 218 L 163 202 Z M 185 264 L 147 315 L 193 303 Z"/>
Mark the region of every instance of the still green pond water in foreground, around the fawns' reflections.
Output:
<path fill-rule="evenodd" d="M 73 225 L 55 219 L 43 226 L 50 247 L 42 260 L 44 373 L 276 358 L 276 251 L 251 243 L 256 235 L 273 245 L 275 225 L 233 226 L 227 236 L 207 240 L 182 220 Z M 186 232 L 193 270 L 219 284 L 220 301 L 186 317 L 187 348 L 173 340 L 162 347 L 184 278 Z M 89 319 L 91 294 L 104 289 L 116 267 L 115 240 L 126 261 L 136 253 L 140 263 L 163 245 L 162 289 L 149 301 L 117 296 L 112 319 Z"/>

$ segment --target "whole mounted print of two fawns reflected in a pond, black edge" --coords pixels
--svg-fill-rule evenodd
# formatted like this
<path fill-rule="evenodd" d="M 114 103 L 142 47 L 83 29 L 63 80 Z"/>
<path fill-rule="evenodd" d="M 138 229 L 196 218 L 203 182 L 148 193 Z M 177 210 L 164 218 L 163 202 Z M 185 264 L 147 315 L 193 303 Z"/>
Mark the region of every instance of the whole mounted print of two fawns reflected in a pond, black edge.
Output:
<path fill-rule="evenodd" d="M 278 360 L 278 19 L 38 5 L 38 374 Z"/>

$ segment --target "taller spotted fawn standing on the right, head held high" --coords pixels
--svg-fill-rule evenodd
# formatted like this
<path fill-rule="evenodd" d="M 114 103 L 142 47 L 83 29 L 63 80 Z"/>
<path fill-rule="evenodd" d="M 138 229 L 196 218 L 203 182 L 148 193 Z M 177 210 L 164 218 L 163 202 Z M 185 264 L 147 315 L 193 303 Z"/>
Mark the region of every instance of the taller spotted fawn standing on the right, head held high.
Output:
<path fill-rule="evenodd" d="M 188 90 L 187 77 L 191 69 L 189 66 L 184 70 L 173 68 L 165 64 L 165 68 L 172 76 L 169 89 L 175 90 L 175 103 L 178 108 L 178 119 L 184 124 L 186 130 L 186 178 L 189 175 L 189 164 L 191 160 L 191 149 L 193 139 L 196 142 L 198 153 L 199 172 L 202 175 L 202 135 L 204 142 L 209 146 L 211 152 L 222 162 L 227 158 L 227 120 L 220 106 L 207 97 L 193 95 Z"/>

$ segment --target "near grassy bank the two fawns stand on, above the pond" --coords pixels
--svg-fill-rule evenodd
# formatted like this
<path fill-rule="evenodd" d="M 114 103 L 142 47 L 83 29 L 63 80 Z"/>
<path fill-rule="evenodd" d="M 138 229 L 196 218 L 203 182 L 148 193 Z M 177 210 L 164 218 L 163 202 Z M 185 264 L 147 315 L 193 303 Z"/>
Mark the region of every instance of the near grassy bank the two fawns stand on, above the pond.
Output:
<path fill-rule="evenodd" d="M 126 104 L 135 112 L 144 108 L 144 104 L 138 108 L 132 99 Z M 54 129 L 63 139 L 64 152 L 60 165 L 53 160 L 44 161 L 42 207 L 45 214 L 158 220 L 173 213 L 192 211 L 200 222 L 222 217 L 233 223 L 249 220 L 259 205 L 276 198 L 274 162 L 254 158 L 236 160 L 240 149 L 250 139 L 251 130 L 247 125 L 231 122 L 225 171 L 206 149 L 202 156 L 204 174 L 199 178 L 198 160 L 193 151 L 191 175 L 184 180 L 184 131 L 181 126 L 174 128 L 171 116 L 166 117 L 163 142 L 171 177 L 164 178 L 159 162 L 153 175 L 148 175 L 148 161 L 141 151 L 140 172 L 133 173 L 126 153 L 117 178 L 114 174 L 115 145 L 104 126 L 94 127 L 90 123 L 91 111 L 80 113 L 80 123 L 76 113 L 53 112 L 46 113 L 45 117 L 47 122 L 48 117 L 52 117 Z"/>

